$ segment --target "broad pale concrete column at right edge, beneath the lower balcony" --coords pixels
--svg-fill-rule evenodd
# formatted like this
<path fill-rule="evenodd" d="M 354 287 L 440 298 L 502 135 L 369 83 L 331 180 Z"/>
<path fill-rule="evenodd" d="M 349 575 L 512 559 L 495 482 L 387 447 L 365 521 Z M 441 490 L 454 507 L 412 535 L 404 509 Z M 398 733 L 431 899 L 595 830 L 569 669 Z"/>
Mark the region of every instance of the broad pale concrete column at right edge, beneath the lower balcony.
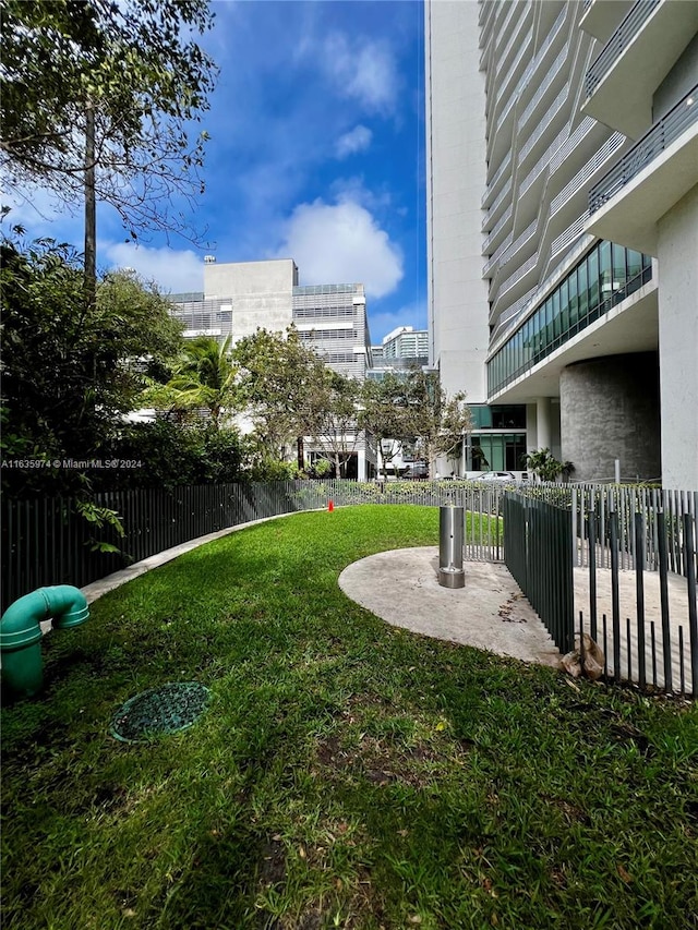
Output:
<path fill-rule="evenodd" d="M 662 484 L 698 491 L 698 185 L 658 222 Z"/>

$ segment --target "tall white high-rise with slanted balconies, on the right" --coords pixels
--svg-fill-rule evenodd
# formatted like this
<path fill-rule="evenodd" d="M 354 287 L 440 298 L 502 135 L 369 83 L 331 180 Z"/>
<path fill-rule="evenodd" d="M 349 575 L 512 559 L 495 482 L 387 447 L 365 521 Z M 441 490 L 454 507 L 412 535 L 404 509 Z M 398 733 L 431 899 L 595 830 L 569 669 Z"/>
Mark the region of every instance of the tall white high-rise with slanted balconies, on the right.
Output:
<path fill-rule="evenodd" d="M 473 435 L 491 468 L 698 488 L 697 31 L 676 0 L 425 2 L 430 348 L 516 424 Z"/>

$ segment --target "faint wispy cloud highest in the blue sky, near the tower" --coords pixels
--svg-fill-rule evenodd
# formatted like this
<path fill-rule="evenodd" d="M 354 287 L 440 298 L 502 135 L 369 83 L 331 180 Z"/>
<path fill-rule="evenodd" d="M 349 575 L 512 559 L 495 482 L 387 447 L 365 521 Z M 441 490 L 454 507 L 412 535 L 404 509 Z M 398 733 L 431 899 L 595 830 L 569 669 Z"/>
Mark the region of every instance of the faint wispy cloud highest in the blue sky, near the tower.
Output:
<path fill-rule="evenodd" d="M 359 100 L 370 112 L 388 116 L 395 109 L 398 70 L 385 41 L 353 38 L 334 33 L 325 39 L 323 64 L 346 97 Z"/>

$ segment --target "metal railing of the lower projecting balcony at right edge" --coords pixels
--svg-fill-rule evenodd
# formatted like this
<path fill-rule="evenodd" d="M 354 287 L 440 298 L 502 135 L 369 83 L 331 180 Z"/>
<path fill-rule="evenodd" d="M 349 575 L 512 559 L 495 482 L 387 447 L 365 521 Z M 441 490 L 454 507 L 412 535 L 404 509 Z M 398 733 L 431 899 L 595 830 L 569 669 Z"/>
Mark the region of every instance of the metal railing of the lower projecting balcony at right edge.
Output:
<path fill-rule="evenodd" d="M 595 213 L 636 174 L 664 152 L 688 126 L 698 122 L 698 84 L 679 100 L 623 158 L 589 191 L 589 213 Z"/>

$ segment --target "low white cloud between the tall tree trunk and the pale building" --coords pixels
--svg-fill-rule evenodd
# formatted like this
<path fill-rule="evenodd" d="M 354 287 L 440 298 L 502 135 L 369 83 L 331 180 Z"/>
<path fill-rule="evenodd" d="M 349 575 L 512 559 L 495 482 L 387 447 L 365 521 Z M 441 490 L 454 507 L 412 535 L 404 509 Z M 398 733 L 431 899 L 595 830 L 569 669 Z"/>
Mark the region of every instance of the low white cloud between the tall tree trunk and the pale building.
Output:
<path fill-rule="evenodd" d="M 203 258 L 191 249 L 177 251 L 132 242 L 100 243 L 100 262 L 112 268 L 134 268 L 146 281 L 156 281 L 166 293 L 203 291 Z"/>

